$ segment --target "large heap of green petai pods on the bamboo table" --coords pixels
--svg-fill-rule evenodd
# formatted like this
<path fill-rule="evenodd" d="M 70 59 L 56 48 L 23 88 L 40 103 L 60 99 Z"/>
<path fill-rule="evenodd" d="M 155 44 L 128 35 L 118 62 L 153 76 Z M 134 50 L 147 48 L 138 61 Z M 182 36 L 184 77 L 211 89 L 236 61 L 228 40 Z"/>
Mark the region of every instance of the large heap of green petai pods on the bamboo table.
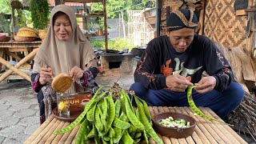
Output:
<path fill-rule="evenodd" d="M 62 130 L 54 134 L 63 134 L 80 124 L 76 143 L 139 143 L 153 138 L 157 143 L 162 139 L 152 128 L 151 116 L 145 101 L 134 94 L 137 109 L 134 109 L 129 95 L 117 85 L 99 88 L 86 104 L 82 114 Z"/>

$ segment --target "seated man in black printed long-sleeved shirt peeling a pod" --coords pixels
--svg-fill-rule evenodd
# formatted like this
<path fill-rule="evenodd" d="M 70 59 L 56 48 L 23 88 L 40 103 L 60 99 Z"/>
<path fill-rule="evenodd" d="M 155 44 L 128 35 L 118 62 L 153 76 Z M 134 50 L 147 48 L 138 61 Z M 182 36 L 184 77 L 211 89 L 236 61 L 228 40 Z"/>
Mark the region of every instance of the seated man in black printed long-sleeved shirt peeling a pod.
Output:
<path fill-rule="evenodd" d="M 149 42 L 130 90 L 149 106 L 189 106 L 186 88 L 197 84 L 192 93 L 196 106 L 226 118 L 242 102 L 244 90 L 233 82 L 230 65 L 214 42 L 195 34 L 197 22 L 192 10 L 170 14 L 166 35 Z M 202 77 L 203 71 L 210 76 Z"/>

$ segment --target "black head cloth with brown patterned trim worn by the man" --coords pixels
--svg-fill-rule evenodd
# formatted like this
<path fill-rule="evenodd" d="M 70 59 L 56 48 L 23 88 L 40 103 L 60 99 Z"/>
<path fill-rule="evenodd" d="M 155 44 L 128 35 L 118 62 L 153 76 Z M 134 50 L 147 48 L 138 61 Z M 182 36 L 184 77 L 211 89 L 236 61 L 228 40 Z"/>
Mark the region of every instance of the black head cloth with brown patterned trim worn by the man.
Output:
<path fill-rule="evenodd" d="M 166 20 L 166 29 L 169 31 L 180 30 L 185 27 L 195 29 L 198 26 L 197 23 L 198 18 L 193 10 L 173 10 Z"/>

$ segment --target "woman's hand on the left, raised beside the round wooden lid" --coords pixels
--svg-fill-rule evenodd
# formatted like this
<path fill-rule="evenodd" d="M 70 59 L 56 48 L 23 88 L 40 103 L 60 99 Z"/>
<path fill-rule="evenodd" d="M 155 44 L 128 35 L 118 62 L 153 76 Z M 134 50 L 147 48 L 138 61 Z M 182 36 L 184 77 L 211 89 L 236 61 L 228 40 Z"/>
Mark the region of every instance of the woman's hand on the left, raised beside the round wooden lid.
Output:
<path fill-rule="evenodd" d="M 53 73 L 50 67 L 42 67 L 40 71 L 39 82 L 41 85 L 45 85 L 46 82 L 51 83 L 53 81 Z"/>

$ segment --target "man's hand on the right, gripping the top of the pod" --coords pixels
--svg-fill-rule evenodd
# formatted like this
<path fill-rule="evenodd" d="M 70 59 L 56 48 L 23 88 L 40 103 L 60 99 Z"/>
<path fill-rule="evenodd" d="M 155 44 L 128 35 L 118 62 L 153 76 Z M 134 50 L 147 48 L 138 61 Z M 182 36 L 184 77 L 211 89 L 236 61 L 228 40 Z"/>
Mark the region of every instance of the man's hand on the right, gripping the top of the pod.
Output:
<path fill-rule="evenodd" d="M 216 86 L 216 78 L 213 76 L 202 77 L 194 90 L 199 94 L 206 94 L 210 90 L 214 90 L 214 86 Z"/>

